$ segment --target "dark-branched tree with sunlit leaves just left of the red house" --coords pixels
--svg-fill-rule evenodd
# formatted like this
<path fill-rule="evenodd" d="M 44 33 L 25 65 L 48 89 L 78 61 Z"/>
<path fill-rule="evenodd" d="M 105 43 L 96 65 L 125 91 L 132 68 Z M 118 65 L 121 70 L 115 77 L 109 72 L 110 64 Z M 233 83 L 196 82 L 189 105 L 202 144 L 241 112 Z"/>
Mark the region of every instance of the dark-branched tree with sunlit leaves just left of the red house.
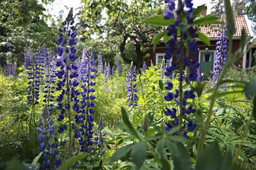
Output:
<path fill-rule="evenodd" d="M 163 14 L 162 0 L 97 0 L 85 1 L 82 21 L 83 36 L 97 35 L 113 51 L 119 51 L 124 62 L 134 62 L 142 67 L 143 58 L 149 52 L 151 37 L 159 28 L 147 25 L 144 20 L 154 14 Z M 127 53 L 133 46 L 135 56 Z M 130 49 L 130 48 L 129 48 Z"/>

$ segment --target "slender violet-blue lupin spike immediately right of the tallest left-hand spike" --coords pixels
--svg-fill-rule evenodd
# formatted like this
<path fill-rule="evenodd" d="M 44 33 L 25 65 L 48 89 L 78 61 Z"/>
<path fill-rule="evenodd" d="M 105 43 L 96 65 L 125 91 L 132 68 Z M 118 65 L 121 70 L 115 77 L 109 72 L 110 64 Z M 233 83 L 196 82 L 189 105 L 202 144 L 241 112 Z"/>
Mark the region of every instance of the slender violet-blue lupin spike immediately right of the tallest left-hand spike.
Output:
<path fill-rule="evenodd" d="M 93 79 L 95 79 L 95 69 L 94 69 L 94 55 L 92 54 L 92 51 L 89 50 L 86 53 L 86 59 L 82 63 L 83 68 L 83 76 L 82 76 L 82 85 L 83 91 L 81 92 L 82 100 L 81 100 L 81 107 L 78 108 L 78 106 L 75 104 L 74 107 L 77 108 L 75 116 L 76 124 L 79 125 L 79 128 L 75 129 L 75 137 L 79 138 L 79 145 L 80 150 L 84 152 L 90 152 L 91 150 L 94 150 L 93 147 L 93 126 L 94 126 L 94 99 L 95 96 L 93 93 L 95 92 L 95 89 L 93 86 L 95 85 L 95 82 Z"/>

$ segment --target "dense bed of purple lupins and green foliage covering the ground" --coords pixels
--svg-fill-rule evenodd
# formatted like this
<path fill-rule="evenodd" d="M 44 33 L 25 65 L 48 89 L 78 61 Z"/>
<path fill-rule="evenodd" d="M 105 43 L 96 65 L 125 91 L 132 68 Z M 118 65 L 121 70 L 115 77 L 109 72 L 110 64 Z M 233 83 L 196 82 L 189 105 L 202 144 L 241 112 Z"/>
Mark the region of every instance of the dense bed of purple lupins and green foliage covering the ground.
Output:
<path fill-rule="evenodd" d="M 90 48 L 77 56 L 72 10 L 55 53 L 25 49 L 24 67 L 8 65 L 0 75 L 0 169 L 255 169 L 255 68 L 233 66 L 247 39 L 243 29 L 231 54 L 230 2 L 226 26 L 202 17 L 204 5 L 179 1 L 174 11 L 174 1 L 164 2 L 165 16 L 146 22 L 167 26 L 153 38 L 153 48 L 166 42 L 165 60 L 177 53 L 166 67 L 163 59 L 122 70 L 117 60 L 111 71 Z M 206 24 L 220 30 L 213 78 L 202 81 L 189 54 L 198 54 L 196 38 L 210 45 L 196 29 Z"/>

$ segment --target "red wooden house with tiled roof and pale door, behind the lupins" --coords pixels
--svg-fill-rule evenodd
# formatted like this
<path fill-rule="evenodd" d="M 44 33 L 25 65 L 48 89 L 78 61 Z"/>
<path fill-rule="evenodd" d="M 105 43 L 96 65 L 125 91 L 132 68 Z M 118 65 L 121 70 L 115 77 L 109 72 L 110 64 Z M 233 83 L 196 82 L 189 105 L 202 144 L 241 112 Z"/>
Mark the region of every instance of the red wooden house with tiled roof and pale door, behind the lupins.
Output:
<path fill-rule="evenodd" d="M 205 11 L 206 13 L 206 11 Z M 203 14 L 203 13 L 202 13 Z M 240 42 L 239 39 L 241 38 L 241 30 L 242 28 L 245 28 L 246 31 L 246 35 L 247 37 L 250 39 L 253 37 L 253 32 L 250 26 L 250 22 L 247 18 L 247 15 L 239 15 L 235 17 L 235 28 L 236 28 L 236 33 L 233 36 L 233 49 L 232 52 L 235 53 L 235 51 L 238 49 L 238 47 L 240 46 Z M 214 67 L 214 56 L 215 56 L 215 48 L 216 48 L 216 42 L 217 42 L 217 32 L 219 30 L 219 26 L 218 25 L 214 25 L 214 26 L 201 26 L 199 28 L 201 30 L 201 32 L 203 34 L 205 34 L 210 42 L 211 45 L 205 45 L 203 42 L 201 41 L 197 41 L 197 46 L 198 46 L 198 55 L 189 55 L 189 59 L 195 59 L 198 58 L 198 61 L 201 63 L 201 68 L 202 68 L 202 72 L 205 75 L 211 75 L 211 72 L 213 72 L 213 67 Z M 244 50 L 247 50 L 247 45 L 245 44 L 245 46 L 243 47 Z M 153 51 L 153 47 L 150 48 L 150 56 L 148 58 L 146 58 L 146 63 L 149 66 L 150 62 L 152 61 L 153 64 L 161 64 L 162 59 L 165 55 L 165 51 L 166 51 L 166 45 L 161 42 L 157 45 L 155 52 Z M 252 54 L 255 51 L 255 48 L 250 50 L 246 55 L 243 56 L 243 58 L 241 59 L 241 61 L 239 61 L 238 63 L 240 64 L 240 66 L 242 66 L 242 68 L 246 68 L 246 67 L 251 67 L 252 66 Z M 173 57 L 171 58 L 171 60 L 176 60 L 176 56 L 175 54 L 173 55 Z M 170 63 L 170 61 L 165 61 L 165 63 Z"/>

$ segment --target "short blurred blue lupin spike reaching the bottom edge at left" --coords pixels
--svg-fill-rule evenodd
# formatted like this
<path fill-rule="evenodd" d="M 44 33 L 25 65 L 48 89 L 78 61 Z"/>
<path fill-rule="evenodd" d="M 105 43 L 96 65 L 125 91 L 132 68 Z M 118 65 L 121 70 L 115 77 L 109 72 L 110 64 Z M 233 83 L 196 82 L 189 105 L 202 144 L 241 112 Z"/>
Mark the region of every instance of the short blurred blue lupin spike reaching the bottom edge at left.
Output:
<path fill-rule="evenodd" d="M 44 107 L 41 116 L 42 118 L 39 119 L 40 127 L 37 129 L 39 134 L 37 140 L 40 142 L 39 151 L 43 152 L 40 169 L 57 169 L 61 164 L 59 145 L 57 137 L 54 136 L 53 120 L 50 118 L 50 111 L 47 106 Z"/>

